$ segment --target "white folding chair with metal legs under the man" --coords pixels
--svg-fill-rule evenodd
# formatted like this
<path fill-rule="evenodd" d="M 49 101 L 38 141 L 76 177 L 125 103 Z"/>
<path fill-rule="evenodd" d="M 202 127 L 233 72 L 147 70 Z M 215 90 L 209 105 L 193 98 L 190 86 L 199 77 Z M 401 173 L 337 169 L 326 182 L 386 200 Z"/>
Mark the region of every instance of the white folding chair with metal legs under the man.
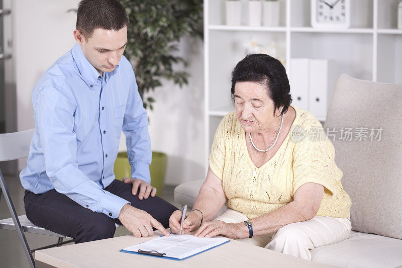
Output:
<path fill-rule="evenodd" d="M 15 160 L 23 157 L 27 157 L 29 153 L 29 147 L 31 144 L 31 139 L 34 134 L 35 129 L 30 129 L 26 131 L 20 131 L 15 133 L 0 134 L 0 162 Z M 15 230 L 20 237 L 24 252 L 28 258 L 29 265 L 35 267 L 35 261 L 32 256 L 32 252 L 38 249 L 45 249 L 54 246 L 60 246 L 62 244 L 73 242 L 74 240 L 68 240 L 63 242 L 64 235 L 54 233 L 52 231 L 46 230 L 44 228 L 38 227 L 30 222 L 26 215 L 17 216 L 16 210 L 11 200 L 11 196 L 6 186 L 6 181 L 4 180 L 2 171 L 0 170 L 0 201 L 2 197 L 2 192 L 4 193 L 7 206 L 9 207 L 11 218 L 0 220 L 0 229 Z M 58 242 L 49 246 L 44 246 L 41 248 L 30 249 L 25 238 L 24 232 L 44 234 L 58 237 Z"/>

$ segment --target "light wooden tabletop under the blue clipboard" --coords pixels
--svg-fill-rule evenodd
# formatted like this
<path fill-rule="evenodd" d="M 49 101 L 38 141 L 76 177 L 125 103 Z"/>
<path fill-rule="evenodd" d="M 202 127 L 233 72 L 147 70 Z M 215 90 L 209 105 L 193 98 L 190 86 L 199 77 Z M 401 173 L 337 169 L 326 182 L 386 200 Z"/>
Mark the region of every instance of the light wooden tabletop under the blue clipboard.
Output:
<path fill-rule="evenodd" d="M 231 240 L 185 260 L 176 261 L 119 252 L 128 246 L 160 236 L 120 236 L 92 242 L 53 247 L 35 252 L 37 267 L 329 267 L 266 248 Z"/>

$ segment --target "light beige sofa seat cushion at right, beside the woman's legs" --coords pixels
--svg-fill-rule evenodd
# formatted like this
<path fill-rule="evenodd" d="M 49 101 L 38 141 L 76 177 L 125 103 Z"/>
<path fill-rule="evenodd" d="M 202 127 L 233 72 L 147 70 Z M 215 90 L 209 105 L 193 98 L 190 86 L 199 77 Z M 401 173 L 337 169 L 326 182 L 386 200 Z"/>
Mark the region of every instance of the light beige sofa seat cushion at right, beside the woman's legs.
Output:
<path fill-rule="evenodd" d="M 402 265 L 402 240 L 352 231 L 344 241 L 310 250 L 312 260 L 339 267 Z"/>

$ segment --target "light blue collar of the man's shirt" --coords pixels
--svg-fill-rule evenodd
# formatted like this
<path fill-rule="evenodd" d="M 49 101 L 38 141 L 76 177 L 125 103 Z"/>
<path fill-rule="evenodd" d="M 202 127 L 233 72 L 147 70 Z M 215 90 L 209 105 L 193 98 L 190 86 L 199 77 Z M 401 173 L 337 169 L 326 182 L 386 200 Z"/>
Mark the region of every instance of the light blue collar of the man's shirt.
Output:
<path fill-rule="evenodd" d="M 81 46 L 78 44 L 75 44 L 74 47 L 71 50 L 72 57 L 74 58 L 75 64 L 78 67 L 78 71 L 82 76 L 82 79 L 84 82 L 91 88 L 91 90 L 94 90 L 94 84 L 96 83 L 97 77 L 99 77 L 99 72 L 93 67 L 93 65 L 89 62 L 89 60 L 84 56 L 84 53 L 82 53 Z M 104 76 L 106 75 L 106 80 L 109 81 L 109 78 L 112 77 L 117 73 L 117 70 L 119 69 L 119 65 L 116 66 L 116 68 L 108 73 L 104 72 Z"/>

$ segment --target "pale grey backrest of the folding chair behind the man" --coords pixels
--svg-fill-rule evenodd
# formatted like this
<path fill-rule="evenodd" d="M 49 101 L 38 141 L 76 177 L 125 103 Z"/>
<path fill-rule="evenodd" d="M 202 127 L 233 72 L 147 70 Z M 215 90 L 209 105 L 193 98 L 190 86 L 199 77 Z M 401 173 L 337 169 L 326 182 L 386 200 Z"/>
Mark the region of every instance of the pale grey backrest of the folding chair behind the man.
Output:
<path fill-rule="evenodd" d="M 27 157 L 35 129 L 0 134 L 0 162 Z"/>

